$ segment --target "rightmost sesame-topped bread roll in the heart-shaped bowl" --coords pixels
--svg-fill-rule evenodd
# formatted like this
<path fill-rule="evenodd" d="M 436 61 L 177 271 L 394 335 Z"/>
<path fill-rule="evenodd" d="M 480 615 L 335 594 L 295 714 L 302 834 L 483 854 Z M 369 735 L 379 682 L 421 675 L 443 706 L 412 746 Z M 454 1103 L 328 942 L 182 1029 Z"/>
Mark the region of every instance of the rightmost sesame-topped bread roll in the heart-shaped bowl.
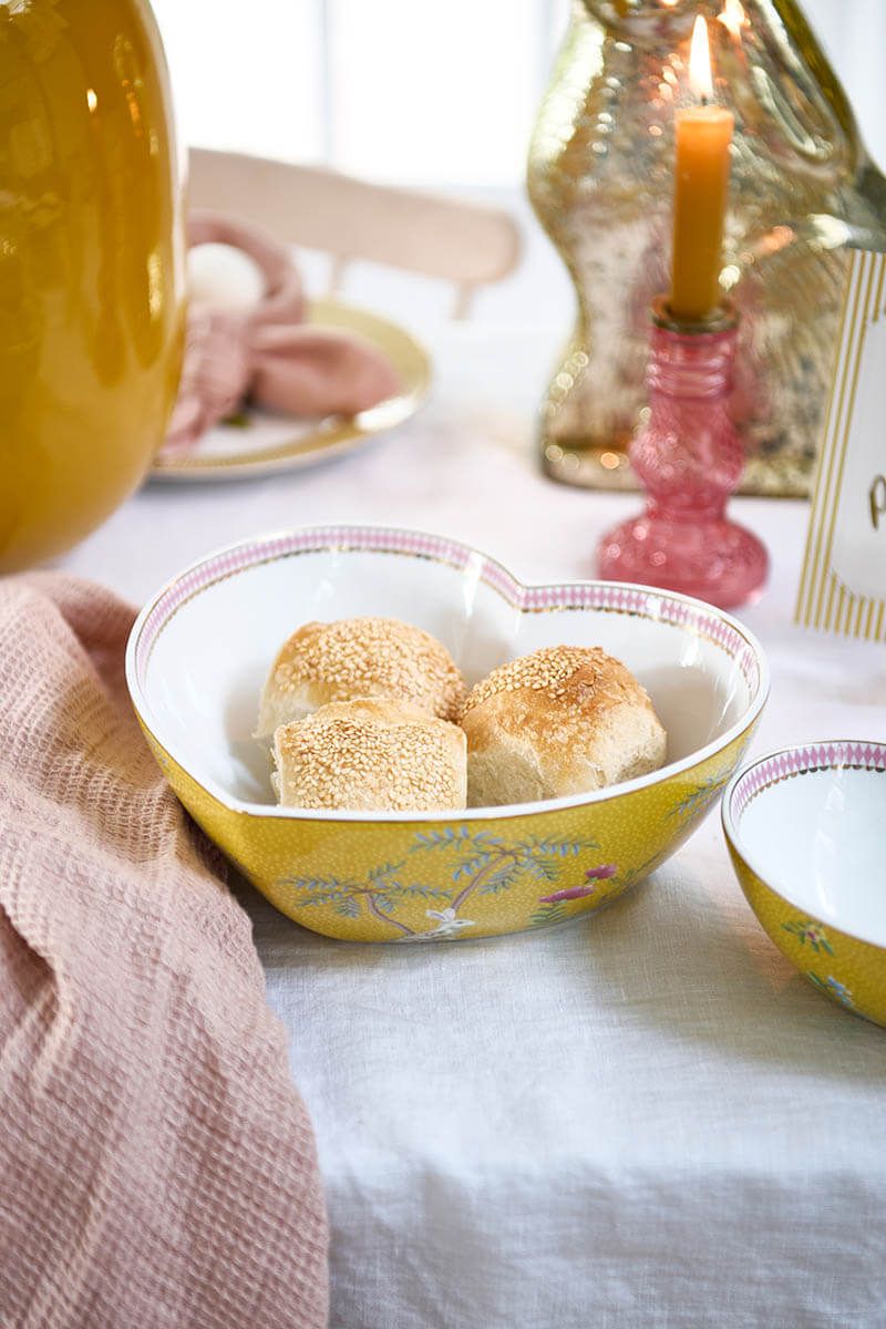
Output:
<path fill-rule="evenodd" d="M 534 803 L 656 771 L 665 734 L 631 671 L 599 647 L 553 646 L 468 695 L 469 807 Z"/>

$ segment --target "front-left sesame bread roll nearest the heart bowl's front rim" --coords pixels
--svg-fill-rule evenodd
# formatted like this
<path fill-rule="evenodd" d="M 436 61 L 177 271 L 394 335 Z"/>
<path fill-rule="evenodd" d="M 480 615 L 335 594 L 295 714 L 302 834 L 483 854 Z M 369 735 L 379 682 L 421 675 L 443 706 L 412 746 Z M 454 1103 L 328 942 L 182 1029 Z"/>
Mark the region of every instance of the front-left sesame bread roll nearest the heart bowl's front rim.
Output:
<path fill-rule="evenodd" d="M 331 702 L 274 735 L 284 808 L 445 812 L 464 808 L 466 739 L 402 702 Z"/>

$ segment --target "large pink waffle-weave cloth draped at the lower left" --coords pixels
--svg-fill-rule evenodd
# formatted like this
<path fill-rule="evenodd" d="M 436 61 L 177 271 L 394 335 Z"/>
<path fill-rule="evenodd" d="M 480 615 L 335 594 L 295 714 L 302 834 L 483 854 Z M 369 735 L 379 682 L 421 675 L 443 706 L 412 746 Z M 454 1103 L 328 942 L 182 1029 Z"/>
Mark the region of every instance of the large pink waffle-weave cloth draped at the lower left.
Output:
<path fill-rule="evenodd" d="M 320 1329 L 311 1123 L 248 918 L 129 707 L 132 619 L 0 581 L 0 1325 Z"/>

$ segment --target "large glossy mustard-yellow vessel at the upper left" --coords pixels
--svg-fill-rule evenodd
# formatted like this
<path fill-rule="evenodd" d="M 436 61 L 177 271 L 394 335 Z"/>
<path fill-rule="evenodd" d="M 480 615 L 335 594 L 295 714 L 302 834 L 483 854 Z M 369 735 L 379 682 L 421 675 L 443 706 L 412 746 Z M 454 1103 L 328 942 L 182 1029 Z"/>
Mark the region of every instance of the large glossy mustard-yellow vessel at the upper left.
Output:
<path fill-rule="evenodd" d="M 0 4 L 0 571 L 74 544 L 159 447 L 183 328 L 167 74 L 143 0 Z"/>

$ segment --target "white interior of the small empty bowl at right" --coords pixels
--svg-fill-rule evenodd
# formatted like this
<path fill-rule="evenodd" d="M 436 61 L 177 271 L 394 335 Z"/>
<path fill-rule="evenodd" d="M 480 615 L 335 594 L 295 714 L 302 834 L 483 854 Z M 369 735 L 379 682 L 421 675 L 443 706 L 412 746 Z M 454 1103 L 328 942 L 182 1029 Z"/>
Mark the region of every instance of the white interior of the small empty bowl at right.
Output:
<path fill-rule="evenodd" d="M 745 804 L 735 836 L 797 909 L 886 946 L 885 771 L 837 766 L 769 784 Z"/>

